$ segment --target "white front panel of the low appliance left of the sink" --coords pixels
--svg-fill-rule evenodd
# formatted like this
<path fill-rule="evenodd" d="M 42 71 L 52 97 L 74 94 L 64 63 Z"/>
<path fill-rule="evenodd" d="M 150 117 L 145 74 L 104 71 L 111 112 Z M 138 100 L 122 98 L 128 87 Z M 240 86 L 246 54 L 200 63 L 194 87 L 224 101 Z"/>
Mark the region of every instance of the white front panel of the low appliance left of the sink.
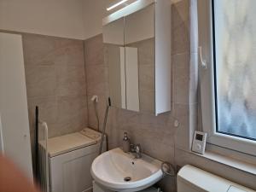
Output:
<path fill-rule="evenodd" d="M 50 191 L 83 192 L 92 188 L 90 166 L 98 155 L 99 145 L 79 148 L 50 158 Z"/>

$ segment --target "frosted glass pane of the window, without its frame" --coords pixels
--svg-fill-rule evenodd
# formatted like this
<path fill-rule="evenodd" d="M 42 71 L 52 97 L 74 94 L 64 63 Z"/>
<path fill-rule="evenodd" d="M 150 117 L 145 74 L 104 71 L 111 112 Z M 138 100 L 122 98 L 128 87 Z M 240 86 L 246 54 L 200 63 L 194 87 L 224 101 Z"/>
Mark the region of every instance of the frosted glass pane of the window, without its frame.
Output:
<path fill-rule="evenodd" d="M 256 139 L 256 1 L 214 0 L 217 131 Z"/>

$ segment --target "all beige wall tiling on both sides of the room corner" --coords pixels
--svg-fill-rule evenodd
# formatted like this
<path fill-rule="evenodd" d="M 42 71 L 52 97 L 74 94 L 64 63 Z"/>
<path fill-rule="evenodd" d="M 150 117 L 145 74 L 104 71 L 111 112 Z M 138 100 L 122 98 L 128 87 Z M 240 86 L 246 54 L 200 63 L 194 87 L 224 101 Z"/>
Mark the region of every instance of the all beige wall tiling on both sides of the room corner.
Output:
<path fill-rule="evenodd" d="M 172 4 L 172 111 L 155 117 L 119 108 L 108 116 L 108 148 L 121 145 L 127 131 L 132 143 L 141 143 L 143 152 L 179 166 L 192 164 L 237 183 L 256 187 L 254 176 L 207 160 L 189 152 L 189 140 L 197 125 L 196 61 L 190 52 L 190 0 Z M 100 127 L 108 97 L 108 66 L 104 63 L 102 35 L 85 41 L 22 34 L 26 89 L 31 128 L 34 108 L 49 124 L 49 137 L 96 128 L 91 96 L 99 96 Z M 171 34 L 170 34 L 171 35 Z M 85 59 L 84 59 L 85 58 Z M 84 67 L 85 62 L 85 67 Z M 174 126 L 174 121 L 178 126 Z M 244 178 L 241 181 L 241 177 Z M 175 180 L 160 183 L 164 191 L 175 191 Z"/>

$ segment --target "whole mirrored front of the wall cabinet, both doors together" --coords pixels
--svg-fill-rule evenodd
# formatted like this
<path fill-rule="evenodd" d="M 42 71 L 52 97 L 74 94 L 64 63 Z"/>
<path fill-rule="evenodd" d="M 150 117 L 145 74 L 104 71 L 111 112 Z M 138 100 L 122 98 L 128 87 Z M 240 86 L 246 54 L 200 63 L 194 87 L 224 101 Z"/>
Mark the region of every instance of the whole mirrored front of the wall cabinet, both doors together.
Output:
<path fill-rule="evenodd" d="M 103 26 L 113 107 L 155 113 L 154 4 Z"/>

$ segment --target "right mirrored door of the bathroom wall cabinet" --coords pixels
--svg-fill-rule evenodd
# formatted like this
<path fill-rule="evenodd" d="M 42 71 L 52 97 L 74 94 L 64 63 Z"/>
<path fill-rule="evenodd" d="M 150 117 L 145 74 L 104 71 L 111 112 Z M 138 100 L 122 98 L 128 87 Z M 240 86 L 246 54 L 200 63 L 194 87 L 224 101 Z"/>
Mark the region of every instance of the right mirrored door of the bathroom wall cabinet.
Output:
<path fill-rule="evenodd" d="M 154 4 L 125 17 L 126 108 L 155 113 Z"/>

